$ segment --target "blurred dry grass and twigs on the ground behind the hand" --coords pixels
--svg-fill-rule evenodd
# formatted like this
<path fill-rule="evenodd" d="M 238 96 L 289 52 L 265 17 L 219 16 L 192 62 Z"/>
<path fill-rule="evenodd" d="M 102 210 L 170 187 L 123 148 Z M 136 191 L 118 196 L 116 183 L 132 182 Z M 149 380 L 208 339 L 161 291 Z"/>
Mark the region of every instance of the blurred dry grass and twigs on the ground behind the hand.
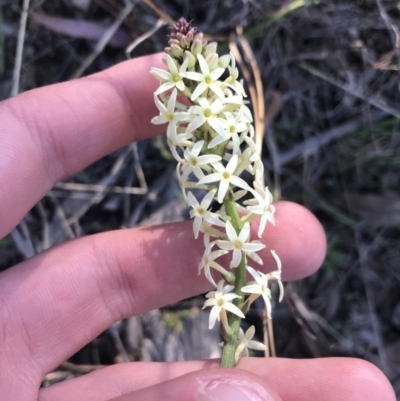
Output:
<path fill-rule="evenodd" d="M 320 271 L 287 284 L 277 305 L 278 356 L 363 358 L 400 396 L 399 1 L 1 0 L 0 99 L 13 90 L 19 35 L 22 92 L 122 62 L 132 42 L 132 57 L 162 51 L 181 16 L 242 55 L 262 113 L 266 181 L 312 210 L 327 234 Z M 186 219 L 174 167 L 160 137 L 59 183 L 0 241 L 0 269 L 69 238 Z M 202 303 L 116 323 L 43 385 L 120 361 L 217 356 Z M 262 332 L 260 310 L 249 320 Z"/>

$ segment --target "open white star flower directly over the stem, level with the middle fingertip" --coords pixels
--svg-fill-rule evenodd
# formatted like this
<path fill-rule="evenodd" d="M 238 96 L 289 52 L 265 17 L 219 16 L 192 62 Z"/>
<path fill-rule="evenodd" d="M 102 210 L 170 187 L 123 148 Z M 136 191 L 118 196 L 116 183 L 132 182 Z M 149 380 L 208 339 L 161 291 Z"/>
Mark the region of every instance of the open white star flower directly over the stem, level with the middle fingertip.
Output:
<path fill-rule="evenodd" d="M 233 251 L 231 268 L 239 266 L 242 259 L 242 252 L 257 252 L 265 248 L 264 244 L 256 242 L 246 242 L 250 237 L 250 224 L 245 223 L 240 230 L 239 235 L 236 233 L 230 221 L 225 223 L 226 235 L 228 241 L 217 240 L 217 245 L 226 251 Z"/>

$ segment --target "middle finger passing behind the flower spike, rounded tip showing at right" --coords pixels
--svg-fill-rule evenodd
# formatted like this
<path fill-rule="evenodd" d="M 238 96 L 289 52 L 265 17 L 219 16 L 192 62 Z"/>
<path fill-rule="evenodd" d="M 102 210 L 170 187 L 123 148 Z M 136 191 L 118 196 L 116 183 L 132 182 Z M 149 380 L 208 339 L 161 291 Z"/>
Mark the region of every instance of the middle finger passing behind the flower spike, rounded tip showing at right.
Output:
<path fill-rule="evenodd" d="M 276 204 L 275 216 L 276 227 L 268 227 L 263 241 L 280 255 L 284 279 L 311 274 L 325 254 L 320 224 L 289 202 Z M 115 321 L 210 290 L 197 275 L 203 251 L 186 222 L 70 241 L 1 273 L 6 351 L 18 366 L 34 360 L 40 376 Z M 260 256 L 264 270 L 276 268 L 269 249 Z M 21 337 L 11 334 L 25 328 L 27 346 L 21 347 Z"/>

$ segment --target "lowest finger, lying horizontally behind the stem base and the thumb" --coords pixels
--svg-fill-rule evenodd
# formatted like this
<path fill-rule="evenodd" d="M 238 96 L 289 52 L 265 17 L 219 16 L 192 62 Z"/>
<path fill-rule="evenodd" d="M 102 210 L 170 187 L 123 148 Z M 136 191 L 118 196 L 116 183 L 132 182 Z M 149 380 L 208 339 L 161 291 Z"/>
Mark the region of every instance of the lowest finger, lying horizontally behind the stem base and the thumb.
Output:
<path fill-rule="evenodd" d="M 218 364 L 217 360 L 209 360 L 113 365 L 42 389 L 39 401 L 105 401 L 132 391 L 139 392 L 201 369 L 215 372 L 213 368 L 217 368 Z M 394 391 L 383 373 L 374 365 L 360 359 L 242 358 L 238 368 L 240 371 L 256 374 L 262 379 L 262 384 L 268 386 L 267 391 L 274 389 L 284 401 L 396 400 Z M 249 380 L 251 383 L 254 377 Z M 187 390 L 187 394 L 190 394 L 190 391 Z"/>

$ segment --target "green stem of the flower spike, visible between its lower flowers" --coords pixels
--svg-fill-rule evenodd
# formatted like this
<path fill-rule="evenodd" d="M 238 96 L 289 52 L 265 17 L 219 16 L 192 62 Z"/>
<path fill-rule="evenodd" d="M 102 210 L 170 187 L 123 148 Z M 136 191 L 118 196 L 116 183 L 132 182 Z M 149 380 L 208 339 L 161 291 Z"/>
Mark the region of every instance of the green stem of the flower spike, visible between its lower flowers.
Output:
<path fill-rule="evenodd" d="M 225 197 L 224 206 L 226 214 L 231 218 L 233 228 L 237 233 L 239 233 L 242 229 L 242 222 L 240 221 L 240 216 L 231 193 L 227 194 L 227 196 Z M 244 254 L 242 256 L 242 260 L 240 261 L 239 266 L 236 268 L 235 277 L 235 293 L 242 298 L 234 299 L 233 303 L 240 308 L 240 305 L 243 304 L 244 297 L 241 289 L 246 285 L 246 256 Z M 228 313 L 228 323 L 232 332 L 224 341 L 224 348 L 222 350 L 221 358 L 221 367 L 223 368 L 233 368 L 236 365 L 235 351 L 241 320 L 242 319 L 239 316 L 233 313 Z"/>

